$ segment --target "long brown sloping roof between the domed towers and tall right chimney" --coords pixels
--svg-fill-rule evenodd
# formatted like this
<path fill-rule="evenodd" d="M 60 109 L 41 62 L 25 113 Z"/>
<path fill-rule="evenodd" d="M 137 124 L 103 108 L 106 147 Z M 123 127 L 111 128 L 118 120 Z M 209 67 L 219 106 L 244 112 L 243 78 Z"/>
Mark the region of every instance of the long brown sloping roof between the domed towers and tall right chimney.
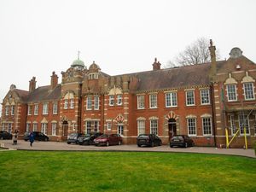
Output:
<path fill-rule="evenodd" d="M 223 63 L 224 61 L 218 61 L 217 68 L 221 67 Z M 208 85 L 210 84 L 208 76 L 210 69 L 211 63 L 204 63 L 142 73 L 130 73 L 128 75 L 138 79 L 135 91 L 161 90 L 167 88 Z"/>

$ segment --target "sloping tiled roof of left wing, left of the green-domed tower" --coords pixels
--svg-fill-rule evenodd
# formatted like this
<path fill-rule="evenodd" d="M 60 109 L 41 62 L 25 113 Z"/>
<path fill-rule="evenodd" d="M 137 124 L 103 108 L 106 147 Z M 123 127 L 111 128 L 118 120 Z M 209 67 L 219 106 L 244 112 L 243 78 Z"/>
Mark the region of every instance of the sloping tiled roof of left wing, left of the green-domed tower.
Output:
<path fill-rule="evenodd" d="M 33 90 L 27 97 L 26 102 L 44 102 L 50 100 L 58 100 L 61 96 L 61 84 L 58 84 L 54 90 L 51 90 L 50 85 L 38 87 Z"/>

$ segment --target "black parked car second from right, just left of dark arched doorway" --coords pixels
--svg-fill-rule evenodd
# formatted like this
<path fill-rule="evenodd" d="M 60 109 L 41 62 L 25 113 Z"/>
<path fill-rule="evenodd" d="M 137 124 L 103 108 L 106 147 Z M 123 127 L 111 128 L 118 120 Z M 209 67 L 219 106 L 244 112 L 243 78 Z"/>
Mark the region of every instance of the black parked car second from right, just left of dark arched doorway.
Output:
<path fill-rule="evenodd" d="M 137 147 L 141 147 L 141 146 L 160 146 L 162 145 L 162 141 L 160 139 L 160 137 L 157 137 L 154 134 L 140 134 L 137 137 Z"/>

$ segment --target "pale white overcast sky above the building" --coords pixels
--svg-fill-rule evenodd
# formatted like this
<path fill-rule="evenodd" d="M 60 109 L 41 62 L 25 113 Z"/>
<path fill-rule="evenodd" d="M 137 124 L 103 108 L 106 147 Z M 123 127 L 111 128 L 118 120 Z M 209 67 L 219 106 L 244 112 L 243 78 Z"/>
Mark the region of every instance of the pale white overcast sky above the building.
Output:
<path fill-rule="evenodd" d="M 239 47 L 256 62 L 255 0 L 0 0 L 0 102 L 11 84 L 28 90 L 61 83 L 81 51 L 110 75 L 148 71 L 197 38 L 212 38 L 221 57 Z M 1 108 L 1 106 L 0 106 Z"/>

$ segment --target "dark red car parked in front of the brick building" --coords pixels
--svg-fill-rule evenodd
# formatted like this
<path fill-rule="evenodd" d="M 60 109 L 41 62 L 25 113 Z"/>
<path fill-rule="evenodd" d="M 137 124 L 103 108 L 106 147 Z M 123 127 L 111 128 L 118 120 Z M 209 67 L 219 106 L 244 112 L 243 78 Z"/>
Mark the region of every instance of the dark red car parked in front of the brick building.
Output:
<path fill-rule="evenodd" d="M 109 145 L 120 145 L 122 144 L 122 137 L 119 134 L 103 134 L 100 137 L 97 137 L 93 140 L 96 146 L 98 145 L 106 145 L 107 147 Z"/>

